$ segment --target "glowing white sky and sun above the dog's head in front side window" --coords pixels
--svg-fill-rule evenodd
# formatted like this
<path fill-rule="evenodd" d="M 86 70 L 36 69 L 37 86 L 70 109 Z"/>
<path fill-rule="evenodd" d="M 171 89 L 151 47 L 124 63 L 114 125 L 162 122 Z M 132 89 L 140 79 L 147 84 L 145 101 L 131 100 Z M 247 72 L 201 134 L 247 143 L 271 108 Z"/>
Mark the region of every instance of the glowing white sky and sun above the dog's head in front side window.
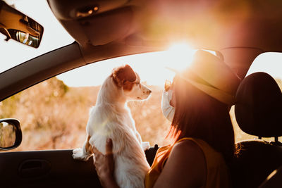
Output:
<path fill-rule="evenodd" d="M 111 58 L 71 70 L 58 76 L 70 87 L 97 86 L 102 84 L 111 70 L 128 64 L 149 85 L 164 86 L 165 80 L 172 80 L 175 73 L 167 68 L 182 70 L 189 66 L 195 53 L 188 44 L 171 45 L 166 51 L 151 52 Z"/>

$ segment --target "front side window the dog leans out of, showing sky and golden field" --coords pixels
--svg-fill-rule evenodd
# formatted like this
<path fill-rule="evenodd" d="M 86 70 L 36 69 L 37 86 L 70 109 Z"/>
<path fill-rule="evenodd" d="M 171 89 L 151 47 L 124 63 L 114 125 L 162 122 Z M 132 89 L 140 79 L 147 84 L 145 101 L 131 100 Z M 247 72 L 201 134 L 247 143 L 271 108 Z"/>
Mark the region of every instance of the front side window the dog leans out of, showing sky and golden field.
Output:
<path fill-rule="evenodd" d="M 1 101 L 0 118 L 20 120 L 23 142 L 16 150 L 81 147 L 86 137 L 89 111 L 95 105 L 100 85 L 110 75 L 112 68 L 125 64 L 124 62 L 128 62 L 140 75 L 141 82 L 152 89 L 152 96 L 147 101 L 128 103 L 137 130 L 142 139 L 149 141 L 152 146 L 167 144 L 164 138 L 170 123 L 161 112 L 165 78 L 156 77 L 156 69 L 163 61 L 157 60 L 159 55 L 155 54 L 155 65 L 151 67 L 151 61 L 138 62 L 140 58 L 146 61 L 146 57 L 142 58 L 145 55 L 92 63 L 52 77 Z M 152 59 L 152 55 L 149 56 Z M 159 70 L 168 71 L 165 68 Z M 150 75 L 156 79 L 150 80 Z M 164 77 L 166 76 L 165 73 Z"/>

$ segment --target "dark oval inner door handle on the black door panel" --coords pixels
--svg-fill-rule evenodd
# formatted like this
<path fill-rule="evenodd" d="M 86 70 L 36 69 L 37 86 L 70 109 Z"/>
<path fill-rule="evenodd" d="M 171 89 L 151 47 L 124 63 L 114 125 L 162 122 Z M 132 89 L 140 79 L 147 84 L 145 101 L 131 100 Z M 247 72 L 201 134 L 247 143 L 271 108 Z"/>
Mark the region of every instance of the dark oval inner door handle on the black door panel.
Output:
<path fill-rule="evenodd" d="M 21 177 L 38 177 L 46 175 L 51 169 L 51 163 L 44 159 L 29 159 L 23 161 L 18 168 Z"/>

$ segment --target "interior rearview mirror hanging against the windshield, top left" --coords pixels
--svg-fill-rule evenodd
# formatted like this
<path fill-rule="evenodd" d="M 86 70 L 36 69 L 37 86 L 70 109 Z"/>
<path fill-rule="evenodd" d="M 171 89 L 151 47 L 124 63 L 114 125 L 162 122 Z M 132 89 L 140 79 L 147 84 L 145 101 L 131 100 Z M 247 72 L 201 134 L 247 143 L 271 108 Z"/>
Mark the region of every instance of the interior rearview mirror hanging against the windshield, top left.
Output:
<path fill-rule="evenodd" d="M 27 46 L 38 48 L 43 27 L 32 18 L 0 1 L 0 32 L 8 39 L 14 39 Z"/>

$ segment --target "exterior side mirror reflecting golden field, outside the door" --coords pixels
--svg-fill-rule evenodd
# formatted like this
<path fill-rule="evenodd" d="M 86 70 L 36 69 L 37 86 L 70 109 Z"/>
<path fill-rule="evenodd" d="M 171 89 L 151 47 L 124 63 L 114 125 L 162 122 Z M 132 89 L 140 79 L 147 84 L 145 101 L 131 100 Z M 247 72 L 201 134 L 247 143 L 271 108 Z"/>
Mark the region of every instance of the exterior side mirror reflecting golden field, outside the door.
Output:
<path fill-rule="evenodd" d="M 0 119 L 0 151 L 15 149 L 22 142 L 20 122 L 16 119 Z"/>

